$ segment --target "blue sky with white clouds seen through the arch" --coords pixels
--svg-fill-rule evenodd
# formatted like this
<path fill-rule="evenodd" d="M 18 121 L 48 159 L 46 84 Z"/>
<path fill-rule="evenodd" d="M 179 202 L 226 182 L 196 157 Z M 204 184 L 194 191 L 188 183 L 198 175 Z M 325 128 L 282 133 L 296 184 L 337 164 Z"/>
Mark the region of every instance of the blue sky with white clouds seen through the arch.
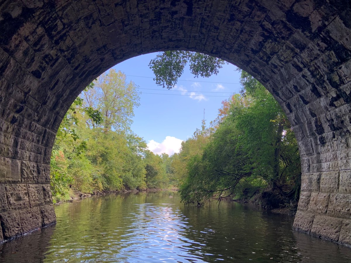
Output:
<path fill-rule="evenodd" d="M 221 101 L 240 90 L 239 72 L 234 65 L 224 65 L 218 75 L 194 78 L 186 67 L 176 88 L 167 90 L 156 85 L 148 63 L 157 53 L 141 55 L 114 66 L 139 86 L 140 106 L 134 109 L 132 131 L 148 143 L 154 153 L 172 154 L 180 142 L 217 117 Z M 212 93 L 216 92 L 216 93 Z M 154 94 L 148 94 L 154 93 Z M 184 96 L 192 95 L 192 96 Z"/>

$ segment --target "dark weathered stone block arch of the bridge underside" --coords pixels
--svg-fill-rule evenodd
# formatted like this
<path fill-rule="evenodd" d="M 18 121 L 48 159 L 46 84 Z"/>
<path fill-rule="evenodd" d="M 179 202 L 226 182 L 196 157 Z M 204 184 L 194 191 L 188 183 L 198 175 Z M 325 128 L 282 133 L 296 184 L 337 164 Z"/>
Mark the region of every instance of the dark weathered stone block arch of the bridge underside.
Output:
<path fill-rule="evenodd" d="M 51 149 L 81 90 L 123 60 L 183 49 L 225 59 L 270 90 L 299 143 L 294 228 L 350 245 L 348 3 L 0 0 L 1 240 L 55 222 Z"/>

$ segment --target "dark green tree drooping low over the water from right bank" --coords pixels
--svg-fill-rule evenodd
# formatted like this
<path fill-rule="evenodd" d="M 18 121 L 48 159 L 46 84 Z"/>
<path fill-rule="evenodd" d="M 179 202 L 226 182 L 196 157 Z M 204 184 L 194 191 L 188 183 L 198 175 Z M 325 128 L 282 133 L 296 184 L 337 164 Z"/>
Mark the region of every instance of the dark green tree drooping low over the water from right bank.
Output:
<path fill-rule="evenodd" d="M 238 111 L 244 107 L 240 100 L 235 102 Z M 240 131 L 226 119 L 211 134 L 202 151 L 188 159 L 187 178 L 180 187 L 185 203 L 201 205 L 214 195 L 228 197 L 242 178 L 252 175 L 252 161 L 238 144 Z"/>

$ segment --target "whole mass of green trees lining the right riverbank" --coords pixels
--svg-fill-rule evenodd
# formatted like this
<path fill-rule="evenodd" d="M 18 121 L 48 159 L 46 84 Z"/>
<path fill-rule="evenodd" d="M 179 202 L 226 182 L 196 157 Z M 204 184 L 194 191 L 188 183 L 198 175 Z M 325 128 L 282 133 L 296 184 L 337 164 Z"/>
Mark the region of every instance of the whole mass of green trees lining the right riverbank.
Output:
<path fill-rule="evenodd" d="M 294 185 L 299 186 L 301 171 L 291 124 L 257 80 L 242 72 L 241 83 L 241 95 L 223 103 L 205 147 L 191 154 L 182 147 L 178 154 L 183 156 L 180 194 L 185 203 L 202 204 L 212 196 L 250 198 L 263 190 L 284 202 L 298 197 Z"/>

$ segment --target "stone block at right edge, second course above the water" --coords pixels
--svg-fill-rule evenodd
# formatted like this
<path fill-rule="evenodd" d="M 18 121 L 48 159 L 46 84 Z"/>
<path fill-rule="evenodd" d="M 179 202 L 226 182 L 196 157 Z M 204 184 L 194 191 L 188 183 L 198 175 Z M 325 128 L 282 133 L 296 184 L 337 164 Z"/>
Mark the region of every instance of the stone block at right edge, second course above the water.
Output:
<path fill-rule="evenodd" d="M 351 219 L 351 194 L 330 194 L 327 216 Z"/>

